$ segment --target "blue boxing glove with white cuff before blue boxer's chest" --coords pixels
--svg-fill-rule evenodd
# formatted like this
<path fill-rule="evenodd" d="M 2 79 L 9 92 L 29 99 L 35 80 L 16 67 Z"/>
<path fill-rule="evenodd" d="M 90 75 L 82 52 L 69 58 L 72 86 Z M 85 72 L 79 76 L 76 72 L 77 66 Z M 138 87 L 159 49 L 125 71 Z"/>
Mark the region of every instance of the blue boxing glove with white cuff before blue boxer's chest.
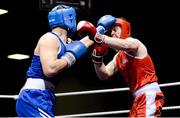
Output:
<path fill-rule="evenodd" d="M 73 41 L 66 45 L 66 52 L 61 58 L 64 58 L 68 62 L 68 67 L 70 67 L 86 52 L 87 47 L 81 41 Z"/>

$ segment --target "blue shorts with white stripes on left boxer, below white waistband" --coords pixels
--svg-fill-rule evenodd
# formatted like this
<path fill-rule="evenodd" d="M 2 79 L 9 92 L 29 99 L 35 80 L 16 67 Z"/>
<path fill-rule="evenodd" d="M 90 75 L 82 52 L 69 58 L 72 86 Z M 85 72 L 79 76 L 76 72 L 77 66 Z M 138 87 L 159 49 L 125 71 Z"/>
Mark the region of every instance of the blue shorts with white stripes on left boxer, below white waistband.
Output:
<path fill-rule="evenodd" d="M 16 101 L 19 117 L 54 117 L 55 96 L 51 90 L 24 89 Z"/>

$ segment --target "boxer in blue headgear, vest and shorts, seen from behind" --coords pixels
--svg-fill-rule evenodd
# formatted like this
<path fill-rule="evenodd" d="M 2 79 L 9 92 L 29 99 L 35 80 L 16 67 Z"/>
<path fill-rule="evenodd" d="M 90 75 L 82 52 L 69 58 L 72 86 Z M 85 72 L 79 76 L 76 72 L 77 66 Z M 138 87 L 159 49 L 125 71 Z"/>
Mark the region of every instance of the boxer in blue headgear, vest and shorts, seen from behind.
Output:
<path fill-rule="evenodd" d="M 76 11 L 67 5 L 57 5 L 48 14 L 51 32 L 40 37 L 17 102 L 19 117 L 55 117 L 54 89 L 57 75 L 71 67 L 94 43 L 85 37 L 73 41 L 76 32 Z"/>

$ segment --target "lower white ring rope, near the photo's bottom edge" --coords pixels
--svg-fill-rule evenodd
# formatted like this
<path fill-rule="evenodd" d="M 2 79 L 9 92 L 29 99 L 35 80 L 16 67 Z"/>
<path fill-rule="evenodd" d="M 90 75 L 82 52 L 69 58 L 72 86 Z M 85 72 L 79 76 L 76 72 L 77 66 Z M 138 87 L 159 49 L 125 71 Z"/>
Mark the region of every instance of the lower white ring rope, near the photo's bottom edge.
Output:
<path fill-rule="evenodd" d="M 174 109 L 180 109 L 180 106 L 169 106 L 169 107 L 163 107 L 162 108 L 162 110 L 174 110 Z M 83 114 L 72 114 L 72 115 L 62 115 L 62 116 L 59 116 L 59 117 L 100 116 L 100 115 L 122 114 L 122 113 L 129 113 L 129 110 L 94 112 L 94 113 L 83 113 Z"/>

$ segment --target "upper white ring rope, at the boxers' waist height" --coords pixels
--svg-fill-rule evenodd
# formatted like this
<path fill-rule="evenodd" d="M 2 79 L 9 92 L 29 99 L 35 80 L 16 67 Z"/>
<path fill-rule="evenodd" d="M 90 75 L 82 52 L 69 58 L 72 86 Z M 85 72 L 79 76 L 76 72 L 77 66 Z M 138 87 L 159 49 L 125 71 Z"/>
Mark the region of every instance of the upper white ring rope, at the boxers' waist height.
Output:
<path fill-rule="evenodd" d="M 159 87 L 169 87 L 169 86 L 177 86 L 180 85 L 180 82 L 172 82 L 159 84 Z M 55 96 L 70 96 L 70 95 L 83 95 L 83 94 L 94 94 L 94 93 L 107 93 L 107 92 L 120 92 L 120 91 L 128 91 L 129 88 L 115 88 L 115 89 L 103 89 L 103 90 L 91 90 L 91 91 L 79 91 L 79 92 L 67 92 L 67 93 L 56 93 Z M 0 95 L 0 98 L 13 98 L 17 99 L 18 95 Z"/>

